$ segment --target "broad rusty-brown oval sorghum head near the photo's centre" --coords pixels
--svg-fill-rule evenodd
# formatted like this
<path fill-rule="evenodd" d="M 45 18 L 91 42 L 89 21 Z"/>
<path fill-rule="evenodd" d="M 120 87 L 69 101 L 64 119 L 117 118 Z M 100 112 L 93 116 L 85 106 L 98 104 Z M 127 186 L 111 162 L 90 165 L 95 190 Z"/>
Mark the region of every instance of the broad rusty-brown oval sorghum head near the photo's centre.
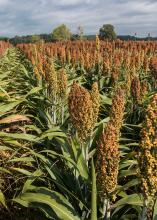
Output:
<path fill-rule="evenodd" d="M 74 82 L 69 93 L 68 106 L 78 136 L 85 141 L 93 129 L 93 103 L 88 90 Z"/>

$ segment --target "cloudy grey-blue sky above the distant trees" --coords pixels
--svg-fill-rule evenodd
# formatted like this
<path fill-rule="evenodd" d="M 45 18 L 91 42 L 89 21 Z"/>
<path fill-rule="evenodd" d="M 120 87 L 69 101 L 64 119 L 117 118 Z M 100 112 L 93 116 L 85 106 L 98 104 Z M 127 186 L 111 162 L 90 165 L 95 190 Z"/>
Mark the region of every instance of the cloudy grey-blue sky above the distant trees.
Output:
<path fill-rule="evenodd" d="M 62 23 L 74 33 L 111 23 L 118 34 L 157 36 L 157 0 L 0 0 L 0 36 L 50 33 Z"/>

